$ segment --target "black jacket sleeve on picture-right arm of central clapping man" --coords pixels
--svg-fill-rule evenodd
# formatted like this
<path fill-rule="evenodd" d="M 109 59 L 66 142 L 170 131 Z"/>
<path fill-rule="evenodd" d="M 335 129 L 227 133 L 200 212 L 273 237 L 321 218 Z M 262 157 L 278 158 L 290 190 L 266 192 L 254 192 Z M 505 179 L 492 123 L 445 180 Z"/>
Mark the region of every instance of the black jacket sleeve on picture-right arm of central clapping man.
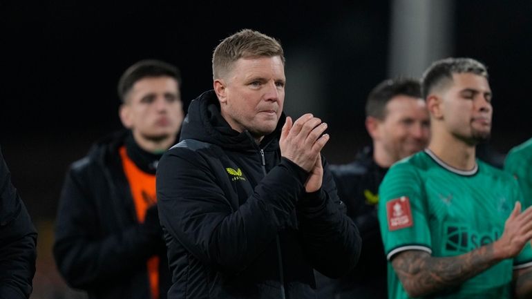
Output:
<path fill-rule="evenodd" d="M 336 195 L 336 185 L 323 161 L 321 189 L 307 193 L 296 209 L 303 248 L 314 268 L 330 278 L 348 274 L 359 260 L 361 238 Z"/>

